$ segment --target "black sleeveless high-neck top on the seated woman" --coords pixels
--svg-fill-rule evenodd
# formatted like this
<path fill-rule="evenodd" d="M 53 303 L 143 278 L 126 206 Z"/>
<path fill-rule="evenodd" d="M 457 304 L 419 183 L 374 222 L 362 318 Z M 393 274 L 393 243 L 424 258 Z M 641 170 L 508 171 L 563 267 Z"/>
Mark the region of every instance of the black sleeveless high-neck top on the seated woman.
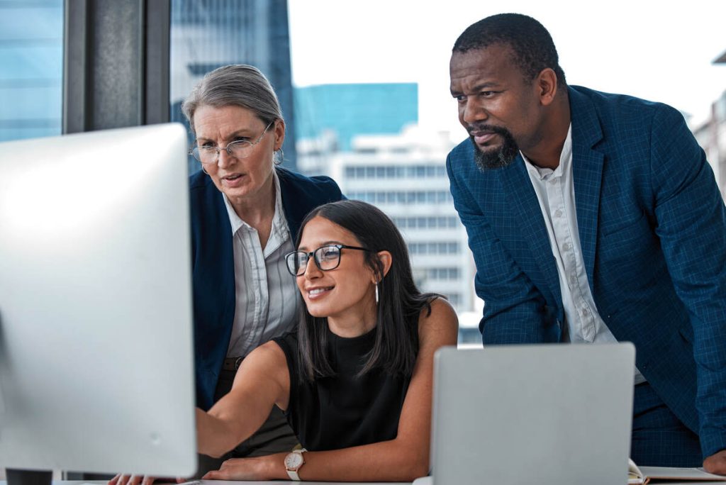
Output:
<path fill-rule="evenodd" d="M 355 338 L 328 330 L 328 356 L 335 375 L 300 380 L 298 336 L 274 341 L 287 357 L 290 402 L 285 416 L 300 443 L 310 451 L 355 447 L 396 438 L 410 377 L 380 369 L 356 377 L 375 343 L 375 328 Z"/>

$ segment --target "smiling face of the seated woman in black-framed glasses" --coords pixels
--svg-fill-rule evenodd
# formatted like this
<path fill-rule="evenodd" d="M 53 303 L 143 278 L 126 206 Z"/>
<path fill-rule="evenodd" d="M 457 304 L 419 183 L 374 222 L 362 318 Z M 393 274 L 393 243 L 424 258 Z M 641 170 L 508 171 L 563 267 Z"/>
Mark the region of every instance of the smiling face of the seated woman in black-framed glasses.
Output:
<path fill-rule="evenodd" d="M 330 244 L 361 246 L 350 231 L 317 216 L 305 225 L 298 250 L 309 253 Z M 375 326 L 375 281 L 366 252 L 345 248 L 340 250 L 337 268 L 321 271 L 310 258 L 305 273 L 297 277 L 308 312 L 327 317 L 331 329 Z"/>

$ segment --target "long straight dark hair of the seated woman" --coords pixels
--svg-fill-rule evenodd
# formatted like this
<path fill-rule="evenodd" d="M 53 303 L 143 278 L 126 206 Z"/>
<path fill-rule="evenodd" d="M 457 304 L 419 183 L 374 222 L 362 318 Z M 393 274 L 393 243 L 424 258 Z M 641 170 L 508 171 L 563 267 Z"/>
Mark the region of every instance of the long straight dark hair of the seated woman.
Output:
<path fill-rule="evenodd" d="M 431 311 L 434 293 L 421 293 L 413 281 L 411 263 L 404 238 L 383 211 L 360 200 L 340 200 L 313 209 L 303 220 L 295 247 L 300 245 L 303 229 L 314 217 L 322 217 L 347 229 L 365 251 L 365 261 L 379 276 L 383 262 L 378 251 L 391 253 L 391 268 L 378 283 L 379 303 L 375 344 L 359 375 L 374 368 L 390 374 L 412 375 L 418 354 L 418 320 L 423 309 Z M 334 375 L 327 356 L 327 318 L 313 317 L 304 309 L 298 325 L 298 353 L 301 380 Z"/>

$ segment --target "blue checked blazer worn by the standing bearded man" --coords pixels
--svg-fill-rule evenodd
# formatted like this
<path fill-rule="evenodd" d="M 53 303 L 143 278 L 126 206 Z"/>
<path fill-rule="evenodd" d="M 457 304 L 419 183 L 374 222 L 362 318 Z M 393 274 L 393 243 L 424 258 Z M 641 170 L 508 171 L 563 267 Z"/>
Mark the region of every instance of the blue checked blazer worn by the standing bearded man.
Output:
<path fill-rule="evenodd" d="M 726 448 L 726 208 L 672 107 L 568 88 L 578 232 L 597 311 L 704 456 Z M 485 302 L 484 344 L 558 342 L 555 258 L 521 155 L 481 171 L 446 160 Z M 698 386 L 696 382 L 698 378 Z"/>

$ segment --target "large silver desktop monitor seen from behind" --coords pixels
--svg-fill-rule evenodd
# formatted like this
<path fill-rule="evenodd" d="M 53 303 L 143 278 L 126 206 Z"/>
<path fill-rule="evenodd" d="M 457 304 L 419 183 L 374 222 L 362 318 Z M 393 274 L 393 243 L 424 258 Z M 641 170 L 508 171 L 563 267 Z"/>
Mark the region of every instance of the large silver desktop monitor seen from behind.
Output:
<path fill-rule="evenodd" d="M 1 467 L 195 472 L 186 144 L 0 144 Z"/>

